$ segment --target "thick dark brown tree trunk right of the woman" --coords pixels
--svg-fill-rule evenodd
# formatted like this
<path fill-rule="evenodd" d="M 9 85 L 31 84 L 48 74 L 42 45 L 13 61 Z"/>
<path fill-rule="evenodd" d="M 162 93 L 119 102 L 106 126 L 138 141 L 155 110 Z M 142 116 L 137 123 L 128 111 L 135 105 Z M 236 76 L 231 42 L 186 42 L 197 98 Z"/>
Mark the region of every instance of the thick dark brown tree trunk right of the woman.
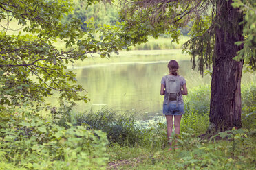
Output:
<path fill-rule="evenodd" d="M 217 0 L 215 49 L 211 82 L 210 127 L 208 133 L 223 132 L 241 123 L 241 77 L 243 61 L 235 61 L 242 49 L 234 43 L 244 40 L 243 14 L 231 6 L 232 1 Z"/>

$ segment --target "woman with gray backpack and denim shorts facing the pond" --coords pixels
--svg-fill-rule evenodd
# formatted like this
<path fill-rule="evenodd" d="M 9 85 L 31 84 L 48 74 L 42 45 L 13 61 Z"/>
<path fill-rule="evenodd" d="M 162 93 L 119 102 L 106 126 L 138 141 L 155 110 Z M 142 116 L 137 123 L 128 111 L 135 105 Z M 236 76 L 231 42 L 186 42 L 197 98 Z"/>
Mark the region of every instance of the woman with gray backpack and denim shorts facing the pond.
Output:
<path fill-rule="evenodd" d="M 160 95 L 164 95 L 163 114 L 167 119 L 167 136 L 169 141 L 173 131 L 173 116 L 175 134 L 180 134 L 180 120 L 182 114 L 184 114 L 182 95 L 188 95 L 188 91 L 186 89 L 186 80 L 178 75 L 178 62 L 171 60 L 168 64 L 168 69 L 169 75 L 162 77 Z M 169 144 L 169 150 L 171 150 L 171 142 Z M 178 148 L 175 147 L 175 149 Z"/>

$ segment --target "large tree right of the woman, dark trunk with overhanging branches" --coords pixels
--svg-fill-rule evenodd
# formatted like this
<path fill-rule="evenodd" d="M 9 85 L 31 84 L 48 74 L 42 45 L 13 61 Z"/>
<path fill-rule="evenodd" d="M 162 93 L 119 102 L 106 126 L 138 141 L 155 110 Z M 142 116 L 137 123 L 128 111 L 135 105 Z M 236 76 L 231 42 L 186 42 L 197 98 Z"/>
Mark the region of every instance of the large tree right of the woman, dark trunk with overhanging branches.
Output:
<path fill-rule="evenodd" d="M 231 0 L 122 1 L 122 19 L 131 42 L 147 36 L 171 34 L 178 40 L 180 28 L 191 27 L 184 44 L 200 73 L 212 67 L 209 133 L 242 127 L 241 77 L 244 62 L 255 70 L 255 2 Z M 243 32 L 244 31 L 244 32 Z M 238 55 L 237 55 L 238 54 Z M 235 60 L 234 60 L 235 59 Z"/>

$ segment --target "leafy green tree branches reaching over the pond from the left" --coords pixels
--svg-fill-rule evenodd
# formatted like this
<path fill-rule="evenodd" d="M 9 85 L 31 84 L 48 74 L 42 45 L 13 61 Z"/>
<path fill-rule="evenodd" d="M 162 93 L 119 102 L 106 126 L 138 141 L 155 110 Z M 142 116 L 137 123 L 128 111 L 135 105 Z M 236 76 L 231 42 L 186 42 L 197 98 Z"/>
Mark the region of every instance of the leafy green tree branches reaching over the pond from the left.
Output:
<path fill-rule="evenodd" d="M 52 90 L 66 101 L 86 102 L 67 64 L 126 48 L 118 36 L 121 23 L 96 27 L 90 19 L 83 30 L 76 17 L 62 23 L 73 7 L 72 0 L 0 0 L 0 111 L 43 104 Z"/>

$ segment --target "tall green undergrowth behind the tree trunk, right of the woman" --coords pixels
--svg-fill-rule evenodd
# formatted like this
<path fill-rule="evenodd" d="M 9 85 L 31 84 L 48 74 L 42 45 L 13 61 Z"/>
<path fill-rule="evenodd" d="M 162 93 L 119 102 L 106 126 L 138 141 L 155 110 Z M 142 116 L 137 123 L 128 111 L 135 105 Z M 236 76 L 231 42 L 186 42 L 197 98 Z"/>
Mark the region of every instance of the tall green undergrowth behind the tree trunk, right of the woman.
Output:
<path fill-rule="evenodd" d="M 246 129 L 255 129 L 255 84 L 242 85 L 242 124 Z M 186 114 L 182 117 L 181 131 L 187 132 L 189 128 L 195 130 L 197 134 L 205 132 L 209 126 L 209 105 L 210 86 L 198 86 L 189 91 L 189 95 L 184 98 L 184 108 Z"/>

